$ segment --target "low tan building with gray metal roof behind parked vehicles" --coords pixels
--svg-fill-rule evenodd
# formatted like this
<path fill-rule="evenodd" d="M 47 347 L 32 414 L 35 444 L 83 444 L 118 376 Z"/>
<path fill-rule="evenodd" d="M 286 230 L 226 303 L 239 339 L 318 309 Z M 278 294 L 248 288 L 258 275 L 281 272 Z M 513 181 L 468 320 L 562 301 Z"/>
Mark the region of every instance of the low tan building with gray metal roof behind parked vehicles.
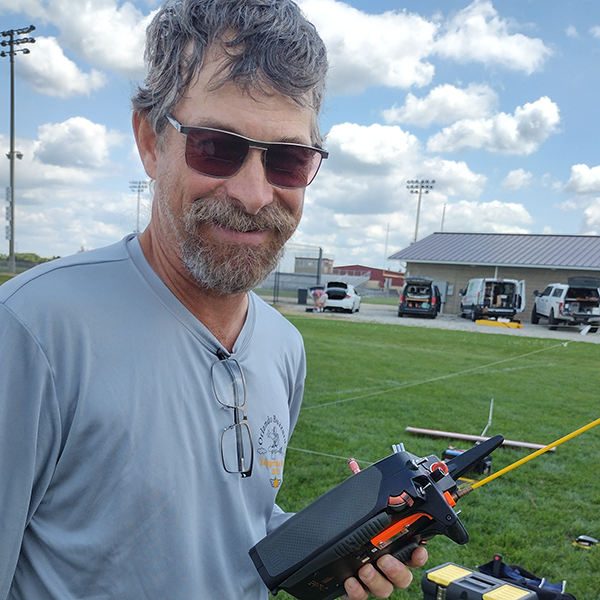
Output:
<path fill-rule="evenodd" d="M 458 314 L 459 291 L 469 279 L 525 280 L 528 317 L 533 290 L 542 290 L 549 283 L 566 283 L 574 276 L 600 277 L 600 236 L 442 232 L 389 259 L 405 262 L 407 275 L 441 282 L 446 288 L 445 313 Z"/>

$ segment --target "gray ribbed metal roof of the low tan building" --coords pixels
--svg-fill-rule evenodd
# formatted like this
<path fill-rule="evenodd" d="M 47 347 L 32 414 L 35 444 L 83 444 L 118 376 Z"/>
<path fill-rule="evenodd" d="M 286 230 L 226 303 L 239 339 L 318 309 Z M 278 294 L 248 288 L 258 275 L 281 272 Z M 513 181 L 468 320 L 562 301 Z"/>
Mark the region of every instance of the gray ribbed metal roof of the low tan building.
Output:
<path fill-rule="evenodd" d="M 419 263 L 600 269 L 600 236 L 433 233 L 391 260 Z"/>

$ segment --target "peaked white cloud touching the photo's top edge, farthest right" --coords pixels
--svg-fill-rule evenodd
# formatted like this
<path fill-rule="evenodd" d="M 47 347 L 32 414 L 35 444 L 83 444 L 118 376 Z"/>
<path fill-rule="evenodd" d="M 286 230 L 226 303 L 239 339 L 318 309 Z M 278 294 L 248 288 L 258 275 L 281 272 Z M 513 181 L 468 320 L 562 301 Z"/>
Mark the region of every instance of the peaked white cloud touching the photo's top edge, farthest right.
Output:
<path fill-rule="evenodd" d="M 458 62 L 501 65 L 528 75 L 541 69 L 551 50 L 542 40 L 511 34 L 510 29 L 490 0 L 475 0 L 446 24 L 436 50 Z"/>

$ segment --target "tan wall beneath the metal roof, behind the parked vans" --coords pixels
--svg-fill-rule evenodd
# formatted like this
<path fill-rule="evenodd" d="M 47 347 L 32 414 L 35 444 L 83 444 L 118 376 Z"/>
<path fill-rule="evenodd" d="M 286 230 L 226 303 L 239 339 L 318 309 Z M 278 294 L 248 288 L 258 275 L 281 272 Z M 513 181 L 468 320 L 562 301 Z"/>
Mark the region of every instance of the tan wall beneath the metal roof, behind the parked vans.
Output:
<path fill-rule="evenodd" d="M 496 274 L 497 273 L 497 274 Z M 577 271 L 574 269 L 527 269 L 523 267 L 495 267 L 468 265 L 433 265 L 407 262 L 406 276 L 430 277 L 436 281 L 447 281 L 452 294 L 446 295 L 444 314 L 459 314 L 461 289 L 467 287 L 469 279 L 498 277 L 501 279 L 525 280 L 525 310 L 522 318 L 529 320 L 533 306 L 533 291 L 542 291 L 549 283 L 567 283 L 569 277 L 598 277 L 600 271 Z"/>

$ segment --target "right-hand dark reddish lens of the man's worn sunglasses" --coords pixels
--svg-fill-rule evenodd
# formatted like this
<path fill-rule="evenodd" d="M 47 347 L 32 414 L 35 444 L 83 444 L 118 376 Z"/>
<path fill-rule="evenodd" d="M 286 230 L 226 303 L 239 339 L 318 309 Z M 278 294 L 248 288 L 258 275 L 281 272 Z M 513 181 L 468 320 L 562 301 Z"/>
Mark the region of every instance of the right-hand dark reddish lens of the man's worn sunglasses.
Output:
<path fill-rule="evenodd" d="M 303 188 L 315 178 L 321 155 L 310 148 L 277 144 L 266 153 L 267 179 L 285 188 Z"/>

